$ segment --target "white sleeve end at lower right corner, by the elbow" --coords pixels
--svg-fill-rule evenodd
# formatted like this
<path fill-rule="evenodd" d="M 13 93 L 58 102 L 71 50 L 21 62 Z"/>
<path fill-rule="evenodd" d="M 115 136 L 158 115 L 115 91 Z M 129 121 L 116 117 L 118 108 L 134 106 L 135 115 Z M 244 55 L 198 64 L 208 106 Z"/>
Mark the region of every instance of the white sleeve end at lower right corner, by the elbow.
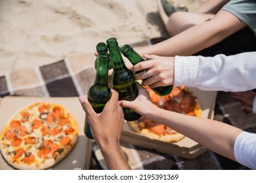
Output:
<path fill-rule="evenodd" d="M 238 163 L 256 169 L 256 134 L 243 131 L 234 142 L 234 156 Z"/>

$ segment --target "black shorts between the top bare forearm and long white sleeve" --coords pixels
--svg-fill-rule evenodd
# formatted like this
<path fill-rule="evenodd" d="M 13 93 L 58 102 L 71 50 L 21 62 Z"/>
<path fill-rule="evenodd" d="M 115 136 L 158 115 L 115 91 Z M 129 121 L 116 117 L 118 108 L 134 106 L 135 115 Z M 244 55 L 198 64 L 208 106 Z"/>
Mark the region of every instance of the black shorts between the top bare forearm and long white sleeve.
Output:
<path fill-rule="evenodd" d="M 224 54 L 226 56 L 240 54 L 243 52 L 256 51 L 256 35 L 249 29 L 244 27 L 240 31 L 226 37 L 223 41 L 205 48 L 204 50 L 192 54 L 193 56 L 215 56 Z"/>

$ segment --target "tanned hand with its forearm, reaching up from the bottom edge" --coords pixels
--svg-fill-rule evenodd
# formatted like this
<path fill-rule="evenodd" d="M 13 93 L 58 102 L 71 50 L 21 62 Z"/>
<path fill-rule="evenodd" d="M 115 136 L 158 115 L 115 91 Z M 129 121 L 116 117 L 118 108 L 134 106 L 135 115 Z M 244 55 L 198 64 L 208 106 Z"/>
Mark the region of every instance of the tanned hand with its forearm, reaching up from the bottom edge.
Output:
<path fill-rule="evenodd" d="M 110 101 L 103 111 L 97 114 L 85 96 L 79 101 L 87 114 L 91 133 L 100 148 L 108 169 L 131 169 L 119 145 L 121 131 L 125 122 L 123 110 L 118 103 L 118 93 L 112 89 Z"/>

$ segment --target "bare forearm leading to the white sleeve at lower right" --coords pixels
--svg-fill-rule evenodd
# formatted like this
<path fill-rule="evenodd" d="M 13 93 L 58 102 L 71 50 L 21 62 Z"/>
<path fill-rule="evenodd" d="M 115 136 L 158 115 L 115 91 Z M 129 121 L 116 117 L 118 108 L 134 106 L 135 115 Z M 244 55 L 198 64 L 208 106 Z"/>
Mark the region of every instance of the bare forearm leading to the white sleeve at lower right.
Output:
<path fill-rule="evenodd" d="M 186 137 L 202 144 L 213 152 L 227 158 L 234 158 L 234 141 L 241 129 L 204 118 L 197 118 L 155 108 L 148 118 L 161 122 Z"/>

